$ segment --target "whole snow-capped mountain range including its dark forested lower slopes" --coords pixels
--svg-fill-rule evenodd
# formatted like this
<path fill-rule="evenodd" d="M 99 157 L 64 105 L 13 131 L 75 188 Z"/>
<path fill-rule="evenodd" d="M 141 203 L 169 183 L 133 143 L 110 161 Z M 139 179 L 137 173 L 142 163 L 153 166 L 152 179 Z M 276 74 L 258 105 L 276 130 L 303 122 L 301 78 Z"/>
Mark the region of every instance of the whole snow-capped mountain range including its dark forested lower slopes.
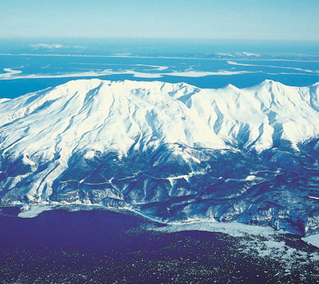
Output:
<path fill-rule="evenodd" d="M 1 205 L 319 229 L 319 84 L 76 80 L 0 101 Z"/>

